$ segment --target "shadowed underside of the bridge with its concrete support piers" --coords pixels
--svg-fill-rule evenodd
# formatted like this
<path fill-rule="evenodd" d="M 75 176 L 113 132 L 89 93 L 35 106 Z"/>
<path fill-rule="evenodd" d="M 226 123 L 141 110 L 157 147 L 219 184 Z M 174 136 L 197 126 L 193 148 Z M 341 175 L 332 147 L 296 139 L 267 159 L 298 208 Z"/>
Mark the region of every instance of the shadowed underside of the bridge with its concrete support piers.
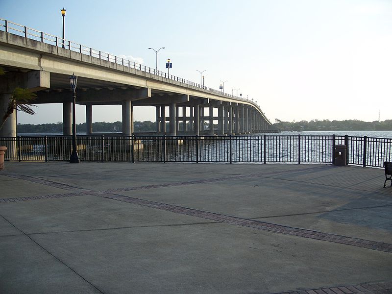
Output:
<path fill-rule="evenodd" d="M 72 98 L 69 75 L 4 68 L 0 76 L 0 111 L 4 111 L 16 87 L 37 94 L 34 104 L 63 104 L 63 134 L 72 133 Z M 178 94 L 148 87 L 79 77 L 76 104 L 86 106 L 87 134 L 93 133 L 93 105 L 122 105 L 123 135 L 133 133 L 134 106 L 156 108 L 156 134 L 224 135 L 262 132 L 269 123 L 254 107 L 244 103 Z M 167 106 L 169 113 L 167 113 Z M 16 114 L 0 130 L 0 137 L 16 136 Z M 168 127 L 167 127 L 168 124 Z"/>

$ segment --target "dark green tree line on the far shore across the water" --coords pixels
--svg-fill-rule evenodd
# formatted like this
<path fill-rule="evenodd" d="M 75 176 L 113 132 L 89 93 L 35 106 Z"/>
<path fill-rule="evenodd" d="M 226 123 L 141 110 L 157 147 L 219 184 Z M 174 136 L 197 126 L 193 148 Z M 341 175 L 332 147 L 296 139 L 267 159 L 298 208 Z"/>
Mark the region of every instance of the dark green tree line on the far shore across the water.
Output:
<path fill-rule="evenodd" d="M 182 122 L 181 122 L 182 123 Z M 180 124 L 181 124 L 180 123 Z M 135 132 L 153 132 L 156 130 L 156 123 L 151 121 L 134 123 Z M 187 123 L 189 124 L 189 122 Z M 207 127 L 208 127 L 208 123 Z M 214 128 L 217 127 L 214 124 Z M 329 121 L 329 120 L 313 120 L 310 122 L 277 122 L 274 123 L 273 128 L 281 131 L 389 131 L 392 130 L 392 120 L 386 120 L 383 122 L 363 122 L 357 120 L 345 120 L 345 121 Z M 169 129 L 169 123 L 166 123 L 166 128 Z M 79 123 L 76 125 L 77 132 L 86 132 L 86 123 Z M 43 123 L 43 124 L 18 124 L 18 133 L 62 133 L 63 123 Z M 96 122 L 93 123 L 94 132 L 122 132 L 123 123 L 114 122 Z"/>

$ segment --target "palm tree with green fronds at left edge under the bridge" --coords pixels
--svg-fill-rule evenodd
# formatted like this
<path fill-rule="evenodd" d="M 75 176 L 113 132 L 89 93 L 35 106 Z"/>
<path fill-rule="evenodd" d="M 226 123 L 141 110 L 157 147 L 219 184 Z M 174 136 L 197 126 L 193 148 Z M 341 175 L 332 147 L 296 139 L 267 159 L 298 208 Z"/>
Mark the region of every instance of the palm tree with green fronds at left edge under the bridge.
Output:
<path fill-rule="evenodd" d="M 4 74 L 4 69 L 0 67 L 0 75 Z M 8 102 L 7 111 L 2 117 L 0 129 L 3 127 L 5 121 L 14 112 L 14 110 L 20 110 L 28 114 L 35 114 L 35 111 L 31 108 L 36 106 L 31 104 L 31 102 L 37 97 L 35 93 L 30 92 L 28 89 L 15 88 L 14 92 L 11 94 L 11 98 Z"/>

